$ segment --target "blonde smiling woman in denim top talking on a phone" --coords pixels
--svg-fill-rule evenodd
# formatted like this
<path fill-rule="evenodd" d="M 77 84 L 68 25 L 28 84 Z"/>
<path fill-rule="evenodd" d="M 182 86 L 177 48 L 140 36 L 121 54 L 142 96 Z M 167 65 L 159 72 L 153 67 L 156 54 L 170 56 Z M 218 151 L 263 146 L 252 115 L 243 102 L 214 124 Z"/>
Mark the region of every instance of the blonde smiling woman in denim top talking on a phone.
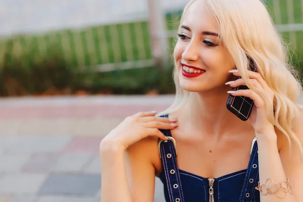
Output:
<path fill-rule="evenodd" d="M 155 176 L 167 201 L 302 200 L 302 90 L 265 6 L 192 0 L 178 37 L 174 104 L 100 143 L 102 201 L 154 201 Z M 254 101 L 249 121 L 227 110 L 229 94 Z"/>

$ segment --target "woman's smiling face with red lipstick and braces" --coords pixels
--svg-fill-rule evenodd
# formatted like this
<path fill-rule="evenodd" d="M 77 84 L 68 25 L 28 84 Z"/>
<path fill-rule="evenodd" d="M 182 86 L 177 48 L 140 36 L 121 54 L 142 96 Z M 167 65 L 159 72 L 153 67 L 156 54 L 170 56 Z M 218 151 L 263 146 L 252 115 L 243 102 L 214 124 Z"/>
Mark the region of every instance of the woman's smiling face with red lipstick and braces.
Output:
<path fill-rule="evenodd" d="M 206 91 L 224 87 L 234 62 L 219 44 L 218 24 L 204 1 L 197 0 L 183 14 L 174 60 L 181 88 Z M 193 68 L 190 68 L 193 67 Z M 189 73 L 187 73 L 189 72 Z"/>

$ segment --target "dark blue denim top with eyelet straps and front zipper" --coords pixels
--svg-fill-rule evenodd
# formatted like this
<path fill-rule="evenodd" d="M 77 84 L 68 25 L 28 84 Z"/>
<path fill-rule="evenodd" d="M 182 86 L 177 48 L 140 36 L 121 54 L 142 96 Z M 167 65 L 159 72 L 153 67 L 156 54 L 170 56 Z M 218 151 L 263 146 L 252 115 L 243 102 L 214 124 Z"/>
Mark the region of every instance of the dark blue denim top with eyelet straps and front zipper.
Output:
<path fill-rule="evenodd" d="M 168 115 L 162 116 L 168 117 Z M 176 145 L 170 130 L 160 130 L 170 138 L 159 141 L 163 171 L 160 179 L 164 184 L 166 201 L 170 202 L 233 202 L 260 201 L 255 189 L 259 182 L 258 144 L 254 138 L 248 167 L 215 179 L 209 179 L 178 169 Z"/>

